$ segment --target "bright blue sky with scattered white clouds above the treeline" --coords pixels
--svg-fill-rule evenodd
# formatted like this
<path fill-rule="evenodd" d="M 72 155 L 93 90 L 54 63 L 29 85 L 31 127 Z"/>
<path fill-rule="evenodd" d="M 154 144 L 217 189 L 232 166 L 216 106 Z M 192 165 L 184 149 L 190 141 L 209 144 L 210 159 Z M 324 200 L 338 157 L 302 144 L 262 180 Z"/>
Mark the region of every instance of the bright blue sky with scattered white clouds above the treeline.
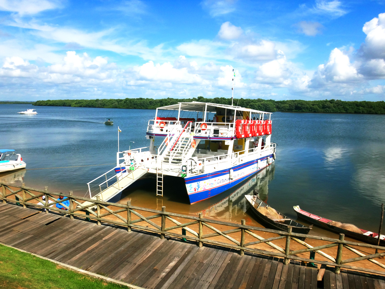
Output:
<path fill-rule="evenodd" d="M 0 100 L 385 100 L 385 0 L 0 0 Z"/>

